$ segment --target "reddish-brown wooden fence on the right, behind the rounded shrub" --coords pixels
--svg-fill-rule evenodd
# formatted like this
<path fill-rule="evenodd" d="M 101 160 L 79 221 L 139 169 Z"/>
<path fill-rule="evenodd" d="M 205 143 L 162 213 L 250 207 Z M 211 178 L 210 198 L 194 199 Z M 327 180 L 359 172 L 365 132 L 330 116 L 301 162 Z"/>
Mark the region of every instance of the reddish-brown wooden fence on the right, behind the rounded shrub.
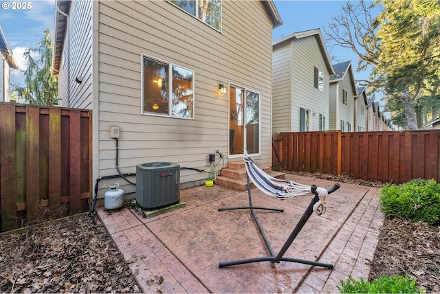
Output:
<path fill-rule="evenodd" d="M 440 182 L 440 131 L 281 133 L 283 170 L 348 174 L 382 183 Z M 273 155 L 272 155 L 273 156 Z"/>

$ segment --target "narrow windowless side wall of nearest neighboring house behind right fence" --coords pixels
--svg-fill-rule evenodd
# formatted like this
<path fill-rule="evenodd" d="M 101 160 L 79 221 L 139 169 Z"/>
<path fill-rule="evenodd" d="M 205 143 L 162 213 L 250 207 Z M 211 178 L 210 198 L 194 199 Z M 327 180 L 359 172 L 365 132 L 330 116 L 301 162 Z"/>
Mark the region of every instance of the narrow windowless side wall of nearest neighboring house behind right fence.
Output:
<path fill-rule="evenodd" d="M 274 47 L 272 68 L 272 128 L 274 132 L 289 132 L 292 116 L 292 56 L 289 42 Z"/>

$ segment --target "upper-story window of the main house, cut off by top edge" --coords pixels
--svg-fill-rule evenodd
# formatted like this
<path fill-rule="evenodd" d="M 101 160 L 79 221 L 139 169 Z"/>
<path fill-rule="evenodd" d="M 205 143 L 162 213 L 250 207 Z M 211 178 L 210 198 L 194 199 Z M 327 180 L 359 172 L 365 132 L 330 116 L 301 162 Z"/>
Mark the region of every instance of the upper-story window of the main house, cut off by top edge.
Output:
<path fill-rule="evenodd" d="M 197 17 L 203 23 L 221 30 L 221 0 L 172 0 L 170 2 Z"/>

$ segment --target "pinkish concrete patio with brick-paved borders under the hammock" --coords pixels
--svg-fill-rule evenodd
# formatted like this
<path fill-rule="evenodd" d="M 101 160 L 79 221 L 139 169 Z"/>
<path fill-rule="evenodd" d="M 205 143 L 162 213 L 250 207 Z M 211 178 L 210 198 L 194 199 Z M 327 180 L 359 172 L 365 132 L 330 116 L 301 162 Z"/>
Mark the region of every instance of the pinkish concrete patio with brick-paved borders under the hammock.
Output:
<path fill-rule="evenodd" d="M 286 174 L 286 179 L 322 188 L 334 182 Z M 384 221 L 378 188 L 341 183 L 327 199 L 327 212 L 313 214 L 285 257 L 331 263 L 333 269 L 295 262 L 256 262 L 219 268 L 219 262 L 269 256 L 249 210 L 248 192 L 199 186 L 180 191 L 185 207 L 144 218 L 124 208 L 98 215 L 115 240 L 143 293 L 338 293 L 340 280 L 369 276 Z M 303 215 L 312 196 L 279 201 L 252 189 L 254 206 L 275 254 Z"/>

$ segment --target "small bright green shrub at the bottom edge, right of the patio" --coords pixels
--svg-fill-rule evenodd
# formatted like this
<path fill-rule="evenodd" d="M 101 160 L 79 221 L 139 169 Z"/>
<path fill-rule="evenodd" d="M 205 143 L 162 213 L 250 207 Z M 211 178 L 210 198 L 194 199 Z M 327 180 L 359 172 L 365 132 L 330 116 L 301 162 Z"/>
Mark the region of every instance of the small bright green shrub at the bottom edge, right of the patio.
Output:
<path fill-rule="evenodd" d="M 423 289 L 415 288 L 416 280 L 410 280 L 406 275 L 382 275 L 382 277 L 367 282 L 362 277 L 359 281 L 354 280 L 351 276 L 344 282 L 340 281 L 341 286 L 336 286 L 340 293 L 423 293 Z"/>

